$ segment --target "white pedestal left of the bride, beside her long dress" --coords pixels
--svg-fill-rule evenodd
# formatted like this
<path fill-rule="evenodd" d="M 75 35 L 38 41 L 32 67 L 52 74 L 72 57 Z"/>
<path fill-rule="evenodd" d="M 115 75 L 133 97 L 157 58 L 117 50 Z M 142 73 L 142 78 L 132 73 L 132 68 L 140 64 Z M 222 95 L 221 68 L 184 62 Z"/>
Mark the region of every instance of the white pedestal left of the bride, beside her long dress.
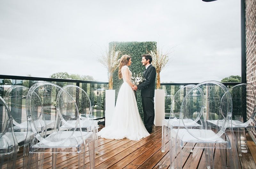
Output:
<path fill-rule="evenodd" d="M 105 127 L 109 126 L 115 109 L 115 90 L 106 90 Z"/>

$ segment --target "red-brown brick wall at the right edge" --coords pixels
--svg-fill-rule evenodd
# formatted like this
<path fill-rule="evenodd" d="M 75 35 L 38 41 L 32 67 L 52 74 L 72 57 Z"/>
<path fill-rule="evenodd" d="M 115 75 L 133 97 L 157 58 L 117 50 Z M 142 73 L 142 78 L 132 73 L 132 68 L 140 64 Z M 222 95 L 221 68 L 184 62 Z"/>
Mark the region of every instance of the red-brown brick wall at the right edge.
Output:
<path fill-rule="evenodd" d="M 256 0 L 245 0 L 245 34 L 246 34 L 246 81 L 256 86 Z M 247 117 L 250 117 L 254 103 L 247 91 Z M 254 124 L 255 125 L 255 124 Z M 256 138 L 255 130 L 251 133 Z"/>

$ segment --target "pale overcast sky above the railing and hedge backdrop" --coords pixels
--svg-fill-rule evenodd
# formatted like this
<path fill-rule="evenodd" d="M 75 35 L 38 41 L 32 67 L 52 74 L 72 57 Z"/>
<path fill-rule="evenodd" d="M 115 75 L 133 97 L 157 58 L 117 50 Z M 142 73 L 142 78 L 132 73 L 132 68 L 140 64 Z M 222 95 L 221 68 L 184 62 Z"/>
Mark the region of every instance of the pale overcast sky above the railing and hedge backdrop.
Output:
<path fill-rule="evenodd" d="M 171 52 L 161 82 L 219 81 L 241 76 L 240 39 L 240 0 L 0 0 L 3 75 L 107 82 L 109 42 L 156 41 Z"/>

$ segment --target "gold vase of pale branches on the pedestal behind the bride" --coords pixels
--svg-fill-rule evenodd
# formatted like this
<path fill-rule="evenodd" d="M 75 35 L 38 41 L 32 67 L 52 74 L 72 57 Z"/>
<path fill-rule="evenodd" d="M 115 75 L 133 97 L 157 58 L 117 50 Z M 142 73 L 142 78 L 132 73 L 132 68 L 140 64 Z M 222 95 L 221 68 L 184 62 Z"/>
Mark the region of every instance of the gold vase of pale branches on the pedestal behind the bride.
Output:
<path fill-rule="evenodd" d="M 116 70 L 119 64 L 119 54 L 120 51 L 116 51 L 116 45 L 113 45 L 111 50 L 102 54 L 98 58 L 98 61 L 102 64 L 103 67 L 108 69 L 108 89 L 113 89 L 113 72 Z"/>

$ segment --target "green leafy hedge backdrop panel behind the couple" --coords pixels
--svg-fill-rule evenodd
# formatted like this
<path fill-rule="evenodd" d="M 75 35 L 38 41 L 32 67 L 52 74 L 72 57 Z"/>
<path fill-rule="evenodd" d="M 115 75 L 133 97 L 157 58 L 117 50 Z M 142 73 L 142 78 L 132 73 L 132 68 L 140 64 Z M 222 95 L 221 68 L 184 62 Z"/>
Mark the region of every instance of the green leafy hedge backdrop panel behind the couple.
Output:
<path fill-rule="evenodd" d="M 145 66 L 143 66 L 141 63 L 141 55 L 147 54 L 150 52 L 150 50 L 156 49 L 156 42 L 154 41 L 146 41 L 146 42 L 136 42 L 136 41 L 115 42 L 113 41 L 113 42 L 109 42 L 109 45 L 108 45 L 109 50 L 111 50 L 111 48 L 114 45 L 116 45 L 116 51 L 121 52 L 119 58 L 121 58 L 121 56 L 124 54 L 132 56 L 132 65 L 129 66 L 132 74 L 142 73 L 142 75 L 143 75 L 143 71 L 145 70 Z M 118 79 L 118 69 L 116 69 L 115 72 L 113 73 L 113 90 L 116 90 L 116 99 L 122 84 L 123 84 L 123 79 L 120 79 L 120 80 Z M 137 104 L 138 104 L 139 113 L 142 121 L 144 121 L 140 90 L 137 90 L 136 95 L 137 95 Z"/>

